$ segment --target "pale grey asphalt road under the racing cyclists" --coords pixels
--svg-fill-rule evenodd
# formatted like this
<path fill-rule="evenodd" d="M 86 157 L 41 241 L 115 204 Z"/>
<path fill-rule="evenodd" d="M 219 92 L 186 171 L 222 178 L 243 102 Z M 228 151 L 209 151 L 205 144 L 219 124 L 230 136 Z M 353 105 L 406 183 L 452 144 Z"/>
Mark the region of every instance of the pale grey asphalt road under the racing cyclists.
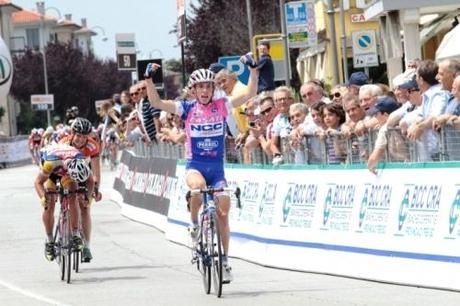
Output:
<path fill-rule="evenodd" d="M 108 199 L 93 206 L 94 260 L 71 284 L 43 256 L 34 166 L 0 170 L 0 305 L 460 305 L 460 293 L 271 269 L 232 259 L 235 280 L 205 295 L 190 250 L 120 215 Z M 459 276 L 460 277 L 460 276 Z"/>

